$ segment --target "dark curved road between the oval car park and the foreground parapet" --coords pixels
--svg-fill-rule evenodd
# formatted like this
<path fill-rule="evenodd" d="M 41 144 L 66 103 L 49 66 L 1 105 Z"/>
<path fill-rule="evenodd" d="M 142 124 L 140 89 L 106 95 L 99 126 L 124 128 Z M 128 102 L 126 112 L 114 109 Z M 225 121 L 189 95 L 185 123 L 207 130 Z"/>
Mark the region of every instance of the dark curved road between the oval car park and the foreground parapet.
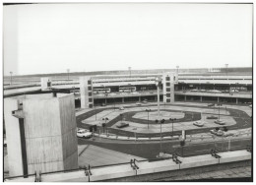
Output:
<path fill-rule="evenodd" d="M 164 152 L 166 154 L 182 154 L 182 148 L 179 141 L 162 141 L 159 142 L 123 142 L 123 141 L 108 141 L 107 139 L 78 139 L 79 145 L 94 145 L 104 149 L 117 151 L 124 154 L 137 155 L 144 158 L 154 159 L 158 154 Z M 250 138 L 236 139 L 230 141 L 230 150 L 245 149 L 247 145 L 251 145 Z M 161 147 L 161 150 L 160 150 Z M 228 141 L 216 141 L 207 143 L 186 143 L 183 148 L 183 155 L 208 154 L 212 149 L 219 151 L 227 151 Z"/>

